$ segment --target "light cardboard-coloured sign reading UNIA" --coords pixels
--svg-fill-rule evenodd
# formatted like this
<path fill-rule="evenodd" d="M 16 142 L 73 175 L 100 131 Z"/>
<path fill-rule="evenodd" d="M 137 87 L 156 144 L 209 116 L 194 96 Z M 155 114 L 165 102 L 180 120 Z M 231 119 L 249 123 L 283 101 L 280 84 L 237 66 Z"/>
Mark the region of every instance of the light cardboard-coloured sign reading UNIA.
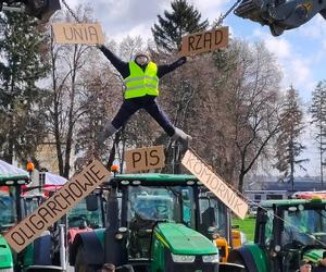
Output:
<path fill-rule="evenodd" d="M 57 44 L 103 45 L 104 35 L 100 24 L 52 24 Z"/>

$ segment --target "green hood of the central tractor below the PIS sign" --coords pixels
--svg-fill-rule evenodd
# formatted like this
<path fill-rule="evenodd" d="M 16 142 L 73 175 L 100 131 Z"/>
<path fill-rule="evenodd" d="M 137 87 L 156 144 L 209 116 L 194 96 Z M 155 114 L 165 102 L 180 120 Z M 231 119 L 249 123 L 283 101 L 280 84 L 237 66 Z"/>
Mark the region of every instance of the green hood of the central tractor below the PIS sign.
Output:
<path fill-rule="evenodd" d="M 175 255 L 217 254 L 210 239 L 183 224 L 159 223 L 154 234 Z"/>

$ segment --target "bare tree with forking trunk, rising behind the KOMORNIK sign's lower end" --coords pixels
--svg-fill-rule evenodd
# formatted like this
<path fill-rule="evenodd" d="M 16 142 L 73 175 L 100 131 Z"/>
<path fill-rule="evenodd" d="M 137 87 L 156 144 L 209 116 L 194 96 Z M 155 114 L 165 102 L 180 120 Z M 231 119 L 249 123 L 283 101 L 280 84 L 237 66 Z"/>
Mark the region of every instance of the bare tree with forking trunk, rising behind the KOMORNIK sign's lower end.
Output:
<path fill-rule="evenodd" d="M 229 54 L 234 65 L 225 102 L 230 127 L 224 137 L 237 151 L 238 189 L 242 191 L 246 174 L 279 129 L 281 75 L 274 57 L 261 42 L 249 46 L 236 41 Z"/>

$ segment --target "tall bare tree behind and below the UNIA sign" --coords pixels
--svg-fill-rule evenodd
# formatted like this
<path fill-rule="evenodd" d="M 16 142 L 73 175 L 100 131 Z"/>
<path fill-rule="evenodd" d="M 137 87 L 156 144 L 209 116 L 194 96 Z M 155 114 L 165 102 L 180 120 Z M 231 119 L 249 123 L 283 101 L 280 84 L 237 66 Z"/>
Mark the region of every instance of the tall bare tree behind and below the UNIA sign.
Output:
<path fill-rule="evenodd" d="M 83 21 L 89 17 L 90 10 L 79 7 L 77 12 Z M 65 14 L 65 21 L 71 21 Z M 52 69 L 51 100 L 48 102 L 49 138 L 54 140 L 60 175 L 70 176 L 72 152 L 75 144 L 75 129 L 78 121 L 88 110 L 83 97 L 83 73 L 87 70 L 89 47 L 50 45 Z M 90 67 L 88 67 L 90 69 Z"/>

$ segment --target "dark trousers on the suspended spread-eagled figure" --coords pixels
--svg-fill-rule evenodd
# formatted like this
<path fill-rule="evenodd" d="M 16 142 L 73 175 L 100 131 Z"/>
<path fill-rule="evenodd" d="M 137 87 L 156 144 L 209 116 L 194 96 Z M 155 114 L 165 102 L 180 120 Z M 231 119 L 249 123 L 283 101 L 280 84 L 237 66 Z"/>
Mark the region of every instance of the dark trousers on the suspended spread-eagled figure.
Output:
<path fill-rule="evenodd" d="M 164 111 L 160 109 L 155 98 L 156 97 L 154 96 L 145 96 L 125 99 L 113 119 L 112 125 L 118 129 L 136 111 L 145 109 L 159 123 L 159 125 L 162 126 L 170 137 L 173 136 L 175 133 L 174 125 L 171 123 Z"/>

